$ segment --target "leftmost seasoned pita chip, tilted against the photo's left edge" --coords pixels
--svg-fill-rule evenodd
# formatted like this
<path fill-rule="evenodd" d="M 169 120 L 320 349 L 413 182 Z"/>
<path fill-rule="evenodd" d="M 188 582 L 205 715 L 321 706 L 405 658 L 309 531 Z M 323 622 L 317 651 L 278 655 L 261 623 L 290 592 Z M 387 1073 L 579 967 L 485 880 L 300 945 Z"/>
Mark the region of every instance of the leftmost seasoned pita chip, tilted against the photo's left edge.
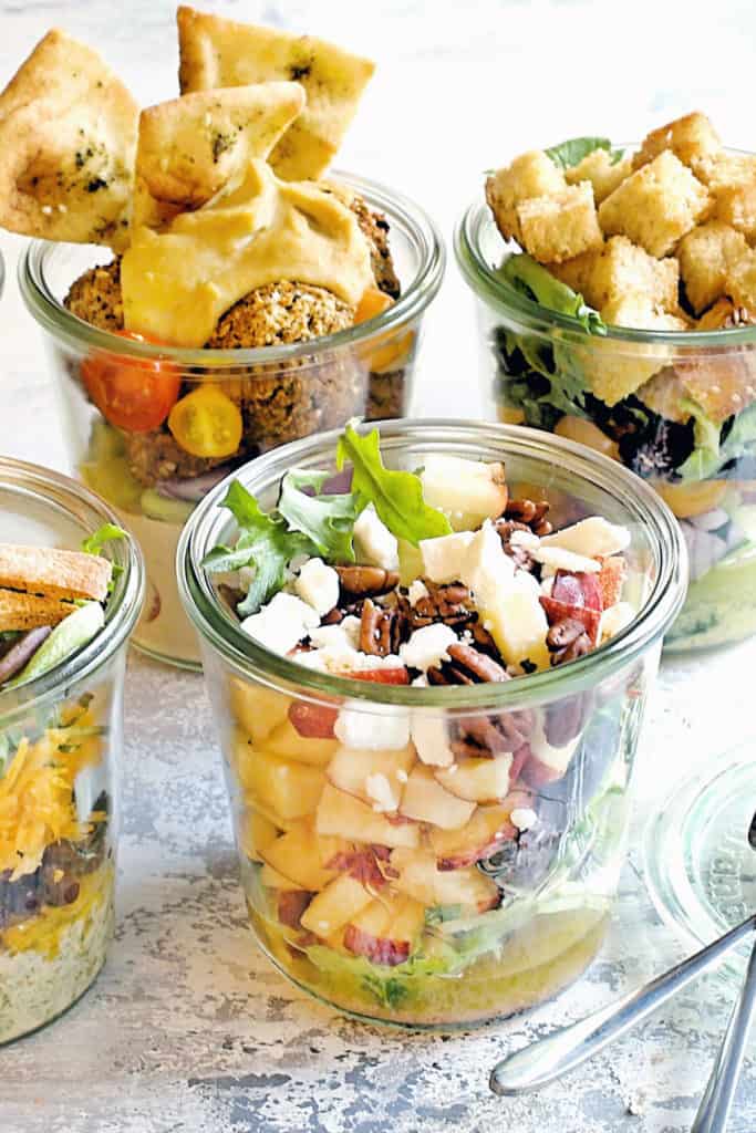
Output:
<path fill-rule="evenodd" d="M 96 52 L 49 32 L 0 94 L 0 225 L 121 248 L 137 118 Z"/>

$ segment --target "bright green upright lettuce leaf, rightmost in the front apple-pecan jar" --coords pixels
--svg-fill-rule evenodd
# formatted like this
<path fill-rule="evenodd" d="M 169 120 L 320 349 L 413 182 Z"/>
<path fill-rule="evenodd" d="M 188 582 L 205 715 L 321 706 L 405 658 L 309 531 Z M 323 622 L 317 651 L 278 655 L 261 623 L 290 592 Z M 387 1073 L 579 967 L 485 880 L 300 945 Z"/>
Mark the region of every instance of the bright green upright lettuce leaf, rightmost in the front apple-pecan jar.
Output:
<path fill-rule="evenodd" d="M 347 461 L 351 461 L 354 467 L 352 492 L 360 496 L 363 505 L 373 504 L 379 518 L 398 539 L 417 546 L 421 539 L 451 533 L 451 525 L 443 512 L 430 508 L 423 500 L 419 476 L 384 467 L 377 429 L 362 436 L 347 425 L 339 438 L 337 468 L 342 469 Z"/>

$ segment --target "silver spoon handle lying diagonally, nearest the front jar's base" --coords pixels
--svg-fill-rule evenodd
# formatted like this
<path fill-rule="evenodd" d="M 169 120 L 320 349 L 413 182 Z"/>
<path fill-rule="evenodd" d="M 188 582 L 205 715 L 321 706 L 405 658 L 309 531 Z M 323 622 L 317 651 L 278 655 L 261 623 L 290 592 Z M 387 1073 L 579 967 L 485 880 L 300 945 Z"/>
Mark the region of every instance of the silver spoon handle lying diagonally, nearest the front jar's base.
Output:
<path fill-rule="evenodd" d="M 575 1070 L 613 1039 L 651 1015 L 680 988 L 714 968 L 722 956 L 756 927 L 756 915 L 725 932 L 700 952 L 657 976 L 645 987 L 617 999 L 570 1026 L 554 1031 L 516 1050 L 498 1063 L 491 1073 L 494 1093 L 510 1096 L 536 1090 Z"/>

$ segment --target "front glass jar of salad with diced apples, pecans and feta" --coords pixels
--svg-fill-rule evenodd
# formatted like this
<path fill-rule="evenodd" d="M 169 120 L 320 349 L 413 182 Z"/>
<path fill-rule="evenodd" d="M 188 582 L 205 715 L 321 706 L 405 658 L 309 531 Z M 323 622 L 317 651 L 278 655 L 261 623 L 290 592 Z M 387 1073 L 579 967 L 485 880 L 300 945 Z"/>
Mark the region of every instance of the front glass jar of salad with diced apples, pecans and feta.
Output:
<path fill-rule="evenodd" d="M 207 495 L 179 587 L 289 979 L 423 1026 L 583 972 L 685 560 L 646 485 L 530 429 L 349 425 Z"/>

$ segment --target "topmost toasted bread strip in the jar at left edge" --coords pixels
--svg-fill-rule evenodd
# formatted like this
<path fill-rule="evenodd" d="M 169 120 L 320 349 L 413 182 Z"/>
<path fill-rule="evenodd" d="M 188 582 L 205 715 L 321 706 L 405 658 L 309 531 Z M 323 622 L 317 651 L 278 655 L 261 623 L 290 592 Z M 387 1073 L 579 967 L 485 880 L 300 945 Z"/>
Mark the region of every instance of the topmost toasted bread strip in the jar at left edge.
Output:
<path fill-rule="evenodd" d="M 0 543 L 0 587 L 48 598 L 103 602 L 111 573 L 112 564 L 100 555 Z"/>

